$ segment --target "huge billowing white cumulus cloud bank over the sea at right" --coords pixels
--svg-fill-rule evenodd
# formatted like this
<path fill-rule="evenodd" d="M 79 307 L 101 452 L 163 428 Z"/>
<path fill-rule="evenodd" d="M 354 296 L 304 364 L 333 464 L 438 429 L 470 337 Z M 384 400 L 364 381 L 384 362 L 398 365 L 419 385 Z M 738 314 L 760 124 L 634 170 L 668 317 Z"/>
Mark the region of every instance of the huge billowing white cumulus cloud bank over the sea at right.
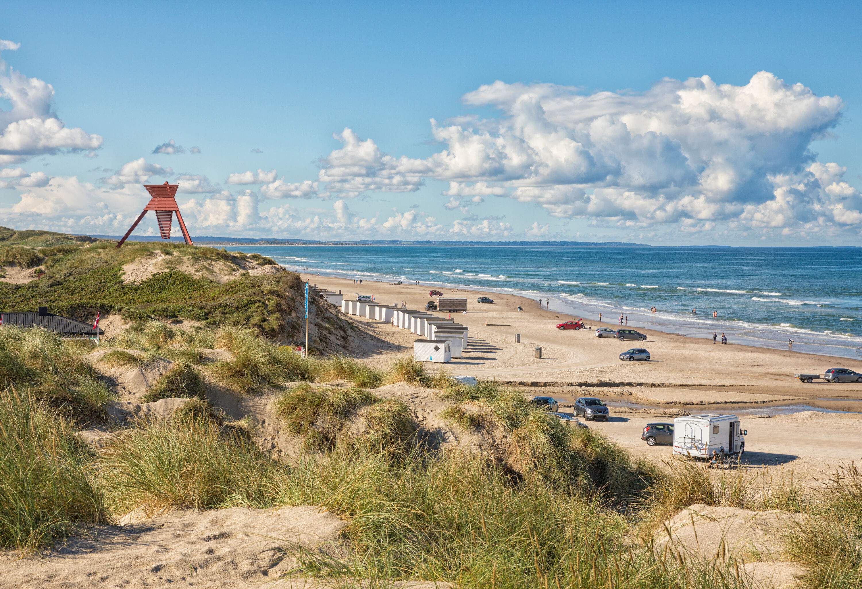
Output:
<path fill-rule="evenodd" d="M 840 121 L 842 101 L 769 72 L 745 85 L 664 79 L 642 93 L 497 81 L 463 99 L 500 115 L 432 119 L 441 148 L 427 158 L 384 154 L 349 128 L 335 135 L 342 146 L 322 160 L 325 190 L 415 191 L 436 179 L 449 183 L 450 210 L 466 197 L 510 197 L 627 227 L 799 229 L 815 219 L 852 226 L 862 214 L 859 191 L 821 179 L 838 166 L 810 149 Z"/>

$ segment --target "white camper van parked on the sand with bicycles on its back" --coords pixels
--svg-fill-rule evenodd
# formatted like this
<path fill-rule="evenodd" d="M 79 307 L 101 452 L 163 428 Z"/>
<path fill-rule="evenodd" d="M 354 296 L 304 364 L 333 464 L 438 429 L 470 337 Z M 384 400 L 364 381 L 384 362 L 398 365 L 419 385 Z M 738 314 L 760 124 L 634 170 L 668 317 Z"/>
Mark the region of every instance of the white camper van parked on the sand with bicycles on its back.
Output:
<path fill-rule="evenodd" d="M 746 429 L 735 415 L 704 413 L 673 420 L 673 454 L 721 459 L 746 449 Z"/>

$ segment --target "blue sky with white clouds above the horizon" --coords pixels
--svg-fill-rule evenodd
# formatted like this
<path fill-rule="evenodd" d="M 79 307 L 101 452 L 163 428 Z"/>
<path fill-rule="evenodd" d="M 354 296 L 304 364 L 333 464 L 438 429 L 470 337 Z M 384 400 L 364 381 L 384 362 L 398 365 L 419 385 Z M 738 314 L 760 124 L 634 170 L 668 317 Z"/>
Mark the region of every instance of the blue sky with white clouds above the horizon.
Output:
<path fill-rule="evenodd" d="M 0 225 L 862 246 L 862 3 L 691 4 L 7 1 Z"/>

